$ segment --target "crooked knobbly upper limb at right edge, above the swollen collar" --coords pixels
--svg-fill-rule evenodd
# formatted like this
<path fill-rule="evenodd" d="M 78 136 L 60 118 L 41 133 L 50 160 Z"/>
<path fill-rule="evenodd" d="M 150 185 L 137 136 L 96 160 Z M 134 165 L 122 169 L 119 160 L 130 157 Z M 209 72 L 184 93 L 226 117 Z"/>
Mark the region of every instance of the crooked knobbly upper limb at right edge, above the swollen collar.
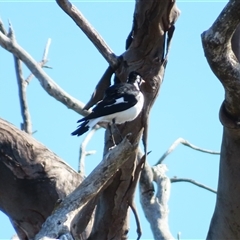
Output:
<path fill-rule="evenodd" d="M 210 29 L 202 33 L 207 61 L 225 88 L 225 107 L 240 119 L 240 65 L 232 51 L 231 39 L 240 19 L 240 2 L 230 0 Z"/>

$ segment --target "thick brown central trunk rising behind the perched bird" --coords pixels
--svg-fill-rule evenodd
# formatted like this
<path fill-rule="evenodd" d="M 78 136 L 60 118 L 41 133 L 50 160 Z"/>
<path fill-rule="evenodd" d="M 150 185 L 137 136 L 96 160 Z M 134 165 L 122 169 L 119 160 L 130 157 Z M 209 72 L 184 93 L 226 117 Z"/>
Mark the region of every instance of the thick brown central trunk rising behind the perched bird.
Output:
<path fill-rule="evenodd" d="M 120 65 L 116 70 L 121 81 L 127 79 L 131 71 L 139 72 L 146 81 L 142 89 L 145 97 L 142 114 L 133 122 L 120 127 L 123 136 L 131 132 L 132 143 L 140 140 L 139 132 L 142 129 L 147 132 L 149 112 L 158 95 L 167 63 L 167 33 L 173 27 L 178 14 L 174 1 L 136 2 L 127 51 L 121 55 Z M 107 133 L 104 152 L 111 146 L 112 142 L 109 141 Z M 127 239 L 129 202 L 136 186 L 133 179 L 139 178 L 139 173 L 135 171 L 138 165 L 136 154 L 137 151 L 122 166 L 111 185 L 101 195 L 90 239 Z"/>

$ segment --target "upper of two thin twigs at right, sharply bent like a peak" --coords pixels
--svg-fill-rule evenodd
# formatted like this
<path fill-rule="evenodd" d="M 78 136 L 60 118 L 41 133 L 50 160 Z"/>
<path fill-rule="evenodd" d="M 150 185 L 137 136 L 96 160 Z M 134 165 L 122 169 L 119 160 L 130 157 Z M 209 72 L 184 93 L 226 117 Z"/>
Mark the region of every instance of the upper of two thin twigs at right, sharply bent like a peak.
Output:
<path fill-rule="evenodd" d="M 209 154 L 217 154 L 219 155 L 220 152 L 216 152 L 216 151 L 212 151 L 212 150 L 207 150 L 207 149 L 203 149 L 203 148 L 199 148 L 191 143 L 189 143 L 187 140 L 183 139 L 183 138 L 178 138 L 171 146 L 170 148 L 162 155 L 162 157 L 158 160 L 158 162 L 155 164 L 161 164 L 163 162 L 163 160 L 179 145 L 179 144 L 183 144 L 187 147 L 190 147 L 194 150 L 200 151 L 200 152 L 204 152 L 204 153 L 209 153 Z"/>

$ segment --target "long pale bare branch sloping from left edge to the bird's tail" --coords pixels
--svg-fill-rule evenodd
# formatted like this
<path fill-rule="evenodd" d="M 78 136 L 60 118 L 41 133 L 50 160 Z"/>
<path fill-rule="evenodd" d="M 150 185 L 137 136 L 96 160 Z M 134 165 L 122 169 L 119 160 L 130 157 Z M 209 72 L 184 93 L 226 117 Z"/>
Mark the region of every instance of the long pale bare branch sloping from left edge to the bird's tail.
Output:
<path fill-rule="evenodd" d="M 39 64 L 27 53 L 16 41 L 12 41 L 0 31 L 0 45 L 7 51 L 14 54 L 17 58 L 21 59 L 29 70 L 39 80 L 44 90 L 56 100 L 63 103 L 66 107 L 74 110 L 75 112 L 86 116 L 88 111 L 83 110 L 84 104 L 79 100 L 70 96 L 61 87 L 59 87 L 39 66 Z"/>

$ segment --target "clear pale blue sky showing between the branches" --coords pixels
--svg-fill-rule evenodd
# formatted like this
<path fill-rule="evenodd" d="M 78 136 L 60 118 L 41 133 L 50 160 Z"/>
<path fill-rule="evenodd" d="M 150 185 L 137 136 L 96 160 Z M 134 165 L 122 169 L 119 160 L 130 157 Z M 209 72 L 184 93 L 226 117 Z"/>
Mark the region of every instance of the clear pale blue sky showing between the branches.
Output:
<path fill-rule="evenodd" d="M 73 2 L 103 36 L 115 54 L 124 51 L 132 26 L 134 1 Z M 159 97 L 151 111 L 149 132 L 150 164 L 155 164 L 179 137 L 202 148 L 219 151 L 222 126 L 218 119 L 224 99 L 223 88 L 211 72 L 202 50 L 200 34 L 207 30 L 226 1 L 179 1 L 166 74 Z M 54 1 L 1 1 L 0 17 L 13 25 L 18 43 L 40 61 L 48 38 L 52 39 L 45 71 L 69 94 L 87 102 L 108 64 L 75 23 Z M 24 68 L 24 76 L 29 70 Z M 78 168 L 79 144 L 84 139 L 70 136 L 80 116 L 50 97 L 33 79 L 27 90 L 34 137 Z M 0 48 L 0 117 L 20 126 L 18 90 L 13 57 Z M 86 160 L 89 173 L 101 160 L 104 131 L 99 130 L 88 145 L 97 154 Z M 166 160 L 168 176 L 191 178 L 217 188 L 219 156 L 179 146 Z M 172 184 L 169 225 L 176 237 L 203 239 L 215 205 L 215 194 L 189 183 Z M 136 199 L 139 206 L 139 200 Z M 143 239 L 151 239 L 150 227 L 139 206 Z M 0 213 L 0 239 L 14 230 Z M 131 217 L 130 238 L 136 238 Z"/>

